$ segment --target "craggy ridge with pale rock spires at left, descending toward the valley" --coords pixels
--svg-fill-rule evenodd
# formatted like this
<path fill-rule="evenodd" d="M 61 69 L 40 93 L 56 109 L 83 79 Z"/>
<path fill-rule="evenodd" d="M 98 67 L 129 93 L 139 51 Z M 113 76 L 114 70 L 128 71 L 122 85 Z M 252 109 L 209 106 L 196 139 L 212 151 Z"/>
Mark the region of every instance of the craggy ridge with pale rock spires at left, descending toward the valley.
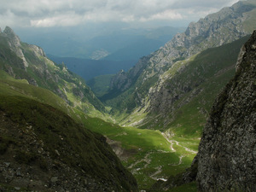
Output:
<path fill-rule="evenodd" d="M 69 72 L 65 65 L 55 65 L 38 46 L 20 42 L 9 26 L 0 33 L 0 44 L 0 69 L 15 79 L 26 79 L 29 84 L 51 90 L 85 113 L 102 115 L 105 112 L 102 102 L 83 79 Z"/>

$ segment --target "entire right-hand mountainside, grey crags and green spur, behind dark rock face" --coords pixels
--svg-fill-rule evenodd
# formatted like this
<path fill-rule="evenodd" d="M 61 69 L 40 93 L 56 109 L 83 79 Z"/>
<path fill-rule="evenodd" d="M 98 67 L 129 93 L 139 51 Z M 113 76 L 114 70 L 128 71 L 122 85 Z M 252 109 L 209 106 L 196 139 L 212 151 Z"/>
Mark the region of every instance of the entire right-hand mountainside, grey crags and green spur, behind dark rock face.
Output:
<path fill-rule="evenodd" d="M 191 23 L 185 32 L 177 34 L 153 54 L 143 57 L 127 73 L 121 71 L 113 77 L 110 90 L 100 98 L 101 101 L 113 108 L 112 113 L 121 125 L 166 130 L 175 121 L 174 127 L 182 126 L 181 119 L 187 118 L 190 111 L 188 115 L 195 114 L 199 119 L 196 126 L 202 127 L 214 95 L 235 71 L 236 57 L 241 44 L 246 41 L 242 38 L 253 32 L 255 8 L 254 1 L 242 1 Z M 238 39 L 241 39 L 240 43 L 232 43 Z M 230 43 L 232 45 L 225 45 Z M 226 47 L 217 49 L 219 46 Z M 219 53 L 222 54 L 218 59 Z M 178 78 L 180 75 L 183 79 Z M 209 90 L 214 93 L 208 101 L 207 89 L 211 86 Z M 197 100 L 195 96 L 203 90 L 206 92 L 200 99 L 207 103 L 193 103 Z M 173 114 L 176 108 L 184 110 Z M 151 117 L 154 119 L 147 125 Z M 200 132 L 196 135 L 200 136 Z"/>

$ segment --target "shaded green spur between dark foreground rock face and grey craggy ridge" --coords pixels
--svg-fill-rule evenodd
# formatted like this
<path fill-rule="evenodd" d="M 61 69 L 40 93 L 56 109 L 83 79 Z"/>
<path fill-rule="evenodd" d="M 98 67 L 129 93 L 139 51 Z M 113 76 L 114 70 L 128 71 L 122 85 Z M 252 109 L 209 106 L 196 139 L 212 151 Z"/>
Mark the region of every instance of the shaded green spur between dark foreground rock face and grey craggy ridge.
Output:
<path fill-rule="evenodd" d="M 247 38 L 207 49 L 188 61 L 173 64 L 150 88 L 150 103 L 142 108 L 148 115 L 141 125 L 148 128 L 160 125 L 163 130 L 177 124 L 183 126 L 185 123 L 181 116 L 185 114 L 186 121 L 193 124 L 198 121 L 202 126 L 214 97 L 234 75 L 237 55 Z M 201 130 L 193 127 L 191 129 L 195 131 Z"/>

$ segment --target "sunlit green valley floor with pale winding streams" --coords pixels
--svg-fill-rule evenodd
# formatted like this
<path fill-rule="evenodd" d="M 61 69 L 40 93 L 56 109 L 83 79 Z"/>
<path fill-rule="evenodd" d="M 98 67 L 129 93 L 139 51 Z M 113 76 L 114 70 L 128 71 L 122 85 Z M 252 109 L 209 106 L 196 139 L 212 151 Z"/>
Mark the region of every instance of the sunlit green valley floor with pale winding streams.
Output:
<path fill-rule="evenodd" d="M 108 137 L 107 142 L 123 165 L 137 178 L 138 188 L 148 190 L 158 179 L 185 171 L 197 153 L 200 138 L 168 136 L 154 130 L 118 125 L 96 125 L 92 130 Z"/>

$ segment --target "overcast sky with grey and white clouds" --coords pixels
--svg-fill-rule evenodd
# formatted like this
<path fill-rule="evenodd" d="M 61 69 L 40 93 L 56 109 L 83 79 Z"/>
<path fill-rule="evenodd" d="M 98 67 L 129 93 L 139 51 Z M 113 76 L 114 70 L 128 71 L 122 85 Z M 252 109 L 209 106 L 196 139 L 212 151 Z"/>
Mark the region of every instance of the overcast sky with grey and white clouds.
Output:
<path fill-rule="evenodd" d="M 197 21 L 237 0 L 0 0 L 0 26 Z"/>

